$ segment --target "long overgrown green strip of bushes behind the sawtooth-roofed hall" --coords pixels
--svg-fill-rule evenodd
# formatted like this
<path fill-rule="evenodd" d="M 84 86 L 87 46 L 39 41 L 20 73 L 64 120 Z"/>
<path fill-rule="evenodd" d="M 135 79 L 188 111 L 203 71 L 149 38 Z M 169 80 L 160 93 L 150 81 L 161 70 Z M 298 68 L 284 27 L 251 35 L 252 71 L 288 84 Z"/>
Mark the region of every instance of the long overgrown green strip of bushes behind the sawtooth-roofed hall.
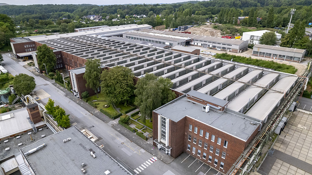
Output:
<path fill-rule="evenodd" d="M 297 69 L 295 69 L 294 66 L 276 63 L 273 60 L 266 61 L 262 59 L 252 59 L 252 58 L 247 58 L 243 56 L 231 55 L 227 53 L 217 54 L 215 57 L 220 58 L 220 59 L 226 59 L 226 60 L 233 59 L 233 61 L 236 61 L 236 62 L 252 64 L 255 66 L 261 66 L 261 67 L 265 67 L 269 69 L 274 69 L 275 71 L 279 71 L 279 72 L 294 74 L 297 71 Z"/>

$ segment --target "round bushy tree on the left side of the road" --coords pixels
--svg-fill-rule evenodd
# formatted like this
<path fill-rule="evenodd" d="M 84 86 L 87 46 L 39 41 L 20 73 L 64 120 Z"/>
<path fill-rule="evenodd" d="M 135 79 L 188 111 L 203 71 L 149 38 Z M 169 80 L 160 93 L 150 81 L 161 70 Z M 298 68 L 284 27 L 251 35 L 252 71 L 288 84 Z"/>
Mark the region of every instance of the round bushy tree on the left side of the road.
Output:
<path fill-rule="evenodd" d="M 35 78 L 24 73 L 20 73 L 13 79 L 13 87 L 18 96 L 27 95 L 32 92 L 35 87 Z"/>

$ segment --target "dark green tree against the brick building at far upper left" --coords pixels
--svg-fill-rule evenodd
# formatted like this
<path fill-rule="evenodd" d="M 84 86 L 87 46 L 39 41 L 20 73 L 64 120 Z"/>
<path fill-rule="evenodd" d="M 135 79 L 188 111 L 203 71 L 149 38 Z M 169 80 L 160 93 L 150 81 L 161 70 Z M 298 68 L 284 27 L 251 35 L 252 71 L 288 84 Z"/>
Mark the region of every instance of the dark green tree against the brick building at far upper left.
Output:
<path fill-rule="evenodd" d="M 41 71 L 52 72 L 56 64 L 56 56 L 47 45 L 41 45 L 37 48 L 37 60 Z M 45 64 L 45 65 L 44 65 Z"/>

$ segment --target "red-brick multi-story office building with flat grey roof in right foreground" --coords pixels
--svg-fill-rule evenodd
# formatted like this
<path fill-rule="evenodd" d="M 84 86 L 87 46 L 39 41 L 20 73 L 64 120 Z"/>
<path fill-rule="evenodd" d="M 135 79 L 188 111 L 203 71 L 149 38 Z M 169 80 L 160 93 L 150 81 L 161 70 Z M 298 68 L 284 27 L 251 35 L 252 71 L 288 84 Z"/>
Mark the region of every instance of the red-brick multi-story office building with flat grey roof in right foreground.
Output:
<path fill-rule="evenodd" d="M 176 158 L 187 152 L 226 173 L 258 132 L 259 120 L 196 91 L 153 111 L 154 146 Z M 207 109 L 207 110 L 206 110 Z"/>

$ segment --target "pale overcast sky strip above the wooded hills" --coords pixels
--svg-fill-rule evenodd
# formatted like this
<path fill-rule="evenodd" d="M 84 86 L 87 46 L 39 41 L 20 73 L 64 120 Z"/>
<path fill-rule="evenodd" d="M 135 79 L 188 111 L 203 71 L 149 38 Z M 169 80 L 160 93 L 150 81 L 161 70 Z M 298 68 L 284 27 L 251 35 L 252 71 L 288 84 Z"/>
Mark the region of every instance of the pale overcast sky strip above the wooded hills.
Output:
<path fill-rule="evenodd" d="M 184 2 L 189 0 L 104 0 L 104 1 L 86 1 L 86 0 L 1 0 L 0 2 L 11 4 L 11 5 L 30 5 L 30 4 L 96 4 L 96 5 L 110 5 L 110 4 L 138 4 L 138 3 L 175 3 L 175 2 Z M 202 0 L 199 0 L 202 1 Z"/>

